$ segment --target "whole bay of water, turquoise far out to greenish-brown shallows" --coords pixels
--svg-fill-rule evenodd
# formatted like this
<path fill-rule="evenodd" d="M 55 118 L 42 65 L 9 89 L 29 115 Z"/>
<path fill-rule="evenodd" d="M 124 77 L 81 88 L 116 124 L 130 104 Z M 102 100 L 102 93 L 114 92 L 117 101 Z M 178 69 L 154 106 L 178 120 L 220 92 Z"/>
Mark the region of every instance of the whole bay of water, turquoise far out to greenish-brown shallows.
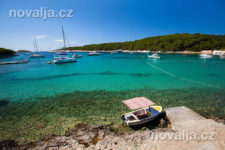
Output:
<path fill-rule="evenodd" d="M 9 102 L 0 106 L 0 141 L 36 141 L 77 122 L 120 128 L 120 115 L 128 111 L 121 101 L 136 96 L 225 118 L 225 59 L 217 56 L 79 53 L 76 63 L 48 64 L 54 53 L 43 54 L 28 64 L 0 66 L 0 100 Z"/>

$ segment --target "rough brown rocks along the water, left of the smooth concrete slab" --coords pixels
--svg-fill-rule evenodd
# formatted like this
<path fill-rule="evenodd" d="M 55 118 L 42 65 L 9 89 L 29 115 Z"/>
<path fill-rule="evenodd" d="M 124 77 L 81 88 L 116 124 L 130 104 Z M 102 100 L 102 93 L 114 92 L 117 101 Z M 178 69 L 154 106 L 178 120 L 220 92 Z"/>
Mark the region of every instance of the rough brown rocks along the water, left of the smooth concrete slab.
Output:
<path fill-rule="evenodd" d="M 132 136 L 138 132 L 147 131 L 168 131 L 171 130 L 170 123 L 162 113 L 159 118 L 155 119 L 149 124 L 133 128 L 133 132 L 118 132 L 113 130 L 109 125 L 91 125 L 91 124 L 77 124 L 73 129 L 68 129 L 65 135 L 56 136 L 49 135 L 38 142 L 31 142 L 25 145 L 18 145 L 16 141 L 4 140 L 0 142 L 1 150 L 53 150 L 53 149 L 95 149 L 95 146 L 101 147 L 102 142 L 110 144 L 110 139 L 124 138 Z M 135 131 L 137 130 L 137 131 Z M 131 141 L 136 140 L 136 137 Z M 117 143 L 117 142 L 115 142 Z M 114 143 L 114 144 L 115 144 Z M 105 145 L 104 144 L 104 145 Z M 112 144 L 111 144 L 112 145 Z M 104 148 L 105 149 L 105 148 Z"/>

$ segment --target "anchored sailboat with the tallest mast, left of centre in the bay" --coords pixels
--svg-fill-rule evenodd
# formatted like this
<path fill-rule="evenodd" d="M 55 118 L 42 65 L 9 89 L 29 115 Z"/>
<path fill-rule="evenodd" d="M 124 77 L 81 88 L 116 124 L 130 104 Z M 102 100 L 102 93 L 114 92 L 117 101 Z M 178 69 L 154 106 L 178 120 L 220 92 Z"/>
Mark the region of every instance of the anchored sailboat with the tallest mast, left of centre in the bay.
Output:
<path fill-rule="evenodd" d="M 63 34 L 63 41 L 64 41 L 64 48 L 66 47 L 66 35 L 64 32 L 64 29 L 62 27 L 62 34 Z M 69 42 L 67 41 L 68 45 Z M 63 63 L 72 63 L 72 62 L 77 62 L 76 58 L 70 58 L 67 56 L 67 53 L 65 52 L 57 52 L 56 55 L 57 57 L 54 57 L 54 60 L 52 62 L 48 62 L 49 64 L 63 64 Z"/>

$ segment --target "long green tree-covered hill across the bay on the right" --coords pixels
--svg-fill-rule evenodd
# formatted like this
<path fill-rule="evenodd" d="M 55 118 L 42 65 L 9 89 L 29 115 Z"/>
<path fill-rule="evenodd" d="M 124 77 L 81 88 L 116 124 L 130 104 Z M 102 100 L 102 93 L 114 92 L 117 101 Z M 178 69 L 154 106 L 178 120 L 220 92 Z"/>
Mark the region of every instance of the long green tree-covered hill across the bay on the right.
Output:
<path fill-rule="evenodd" d="M 173 34 L 148 37 L 136 41 L 91 44 L 69 47 L 70 50 L 160 50 L 160 51 L 200 51 L 225 49 L 225 35 Z"/>

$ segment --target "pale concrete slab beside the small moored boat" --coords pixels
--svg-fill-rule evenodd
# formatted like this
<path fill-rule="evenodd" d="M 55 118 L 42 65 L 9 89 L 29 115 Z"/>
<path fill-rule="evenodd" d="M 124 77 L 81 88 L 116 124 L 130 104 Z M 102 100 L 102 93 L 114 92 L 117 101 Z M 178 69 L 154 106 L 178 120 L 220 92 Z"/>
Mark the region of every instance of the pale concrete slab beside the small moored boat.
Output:
<path fill-rule="evenodd" d="M 177 146 L 185 149 L 224 150 L 225 125 L 212 119 L 206 119 L 191 109 L 181 106 L 165 109 L 171 122 L 172 130 L 177 133 L 195 134 L 197 139 L 189 142 L 178 142 Z"/>

